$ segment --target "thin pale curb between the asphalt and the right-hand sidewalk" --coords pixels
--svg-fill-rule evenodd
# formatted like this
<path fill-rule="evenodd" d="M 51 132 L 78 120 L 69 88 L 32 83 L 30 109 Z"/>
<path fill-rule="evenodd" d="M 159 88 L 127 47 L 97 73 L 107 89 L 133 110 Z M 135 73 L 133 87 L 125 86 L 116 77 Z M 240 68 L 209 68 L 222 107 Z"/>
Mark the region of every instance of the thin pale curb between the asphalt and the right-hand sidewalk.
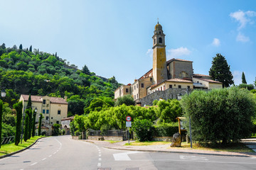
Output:
<path fill-rule="evenodd" d="M 85 141 L 94 143 L 97 145 L 97 143 L 92 141 Z M 107 149 L 117 149 L 117 150 L 127 150 L 127 151 L 139 151 L 139 152 L 159 152 L 159 153 L 174 153 L 174 154 L 199 154 L 199 155 L 213 155 L 213 156 L 222 156 L 222 157 L 256 157 L 256 154 L 247 154 L 247 155 L 241 155 L 241 154 L 218 154 L 218 153 L 201 153 L 201 152 L 183 152 L 183 151 L 164 151 L 164 150 L 148 150 L 148 149 L 132 149 L 132 148 L 122 148 L 122 147 L 107 147 L 102 146 Z"/>

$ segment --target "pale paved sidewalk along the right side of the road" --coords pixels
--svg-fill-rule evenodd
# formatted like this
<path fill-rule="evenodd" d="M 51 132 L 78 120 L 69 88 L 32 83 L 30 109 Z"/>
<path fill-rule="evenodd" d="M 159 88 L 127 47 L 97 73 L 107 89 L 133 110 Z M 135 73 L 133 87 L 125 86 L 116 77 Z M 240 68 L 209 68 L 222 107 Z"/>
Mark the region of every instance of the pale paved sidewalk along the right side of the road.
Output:
<path fill-rule="evenodd" d="M 166 153 L 181 153 L 181 154 L 204 154 L 204 155 L 215 155 L 215 156 L 228 156 L 228 157 L 256 157 L 256 152 L 218 152 L 200 149 L 185 149 L 185 148 L 170 148 L 171 142 L 168 145 L 147 145 L 147 146 L 132 146 L 125 145 L 128 141 L 110 143 L 107 141 L 100 140 L 82 140 L 85 142 L 92 142 L 95 145 L 99 145 L 108 149 L 119 149 L 119 150 L 129 150 L 129 151 L 141 151 L 141 152 L 166 152 Z M 134 142 L 134 141 L 130 141 Z M 242 140 L 242 142 L 244 142 Z M 245 142 L 248 142 L 245 140 Z M 256 146 L 256 139 L 250 140 L 253 142 L 253 147 Z"/>

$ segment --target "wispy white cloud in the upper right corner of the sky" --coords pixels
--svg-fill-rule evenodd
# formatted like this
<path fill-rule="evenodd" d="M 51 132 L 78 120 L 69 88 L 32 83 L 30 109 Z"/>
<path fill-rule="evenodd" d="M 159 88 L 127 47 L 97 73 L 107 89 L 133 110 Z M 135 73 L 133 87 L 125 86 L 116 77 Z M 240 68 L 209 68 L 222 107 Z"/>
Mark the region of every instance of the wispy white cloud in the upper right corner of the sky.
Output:
<path fill-rule="evenodd" d="M 250 20 L 251 17 L 256 16 L 255 11 L 236 11 L 234 13 L 230 13 L 230 17 L 234 18 L 235 21 L 238 21 L 240 26 L 238 27 L 238 30 L 245 28 L 247 23 L 253 23 L 253 21 Z"/>

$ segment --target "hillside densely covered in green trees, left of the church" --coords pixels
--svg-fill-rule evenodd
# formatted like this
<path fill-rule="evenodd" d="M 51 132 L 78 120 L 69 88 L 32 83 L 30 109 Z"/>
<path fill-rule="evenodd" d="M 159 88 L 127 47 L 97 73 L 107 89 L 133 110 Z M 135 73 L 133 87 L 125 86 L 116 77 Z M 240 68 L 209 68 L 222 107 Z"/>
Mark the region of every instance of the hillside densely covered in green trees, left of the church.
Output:
<path fill-rule="evenodd" d="M 37 49 L 0 45 L 0 87 L 5 89 L 4 102 L 10 107 L 20 94 L 68 97 L 68 115 L 81 115 L 94 98 L 114 106 L 114 77 L 96 76 L 85 65 L 82 70 L 55 54 Z"/>

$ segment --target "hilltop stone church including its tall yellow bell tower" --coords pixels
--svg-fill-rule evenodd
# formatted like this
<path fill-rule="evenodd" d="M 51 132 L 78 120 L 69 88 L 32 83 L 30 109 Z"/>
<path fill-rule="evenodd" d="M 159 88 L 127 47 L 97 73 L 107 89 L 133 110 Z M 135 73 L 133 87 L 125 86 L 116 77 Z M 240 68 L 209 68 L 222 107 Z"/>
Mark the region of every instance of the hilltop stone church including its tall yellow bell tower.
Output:
<path fill-rule="evenodd" d="M 164 98 L 163 96 L 170 95 L 171 98 L 177 98 L 178 91 L 184 91 L 184 89 L 193 91 L 193 89 L 222 88 L 222 83 L 213 81 L 210 76 L 194 74 L 192 61 L 174 58 L 166 61 L 165 34 L 159 23 L 154 28 L 152 38 L 153 68 L 139 79 L 135 79 L 133 84 L 119 86 L 114 91 L 114 99 L 130 94 L 134 101 L 144 105 L 142 101 L 148 101 L 147 98 L 159 100 Z M 154 94 L 156 91 L 162 92 Z"/>

